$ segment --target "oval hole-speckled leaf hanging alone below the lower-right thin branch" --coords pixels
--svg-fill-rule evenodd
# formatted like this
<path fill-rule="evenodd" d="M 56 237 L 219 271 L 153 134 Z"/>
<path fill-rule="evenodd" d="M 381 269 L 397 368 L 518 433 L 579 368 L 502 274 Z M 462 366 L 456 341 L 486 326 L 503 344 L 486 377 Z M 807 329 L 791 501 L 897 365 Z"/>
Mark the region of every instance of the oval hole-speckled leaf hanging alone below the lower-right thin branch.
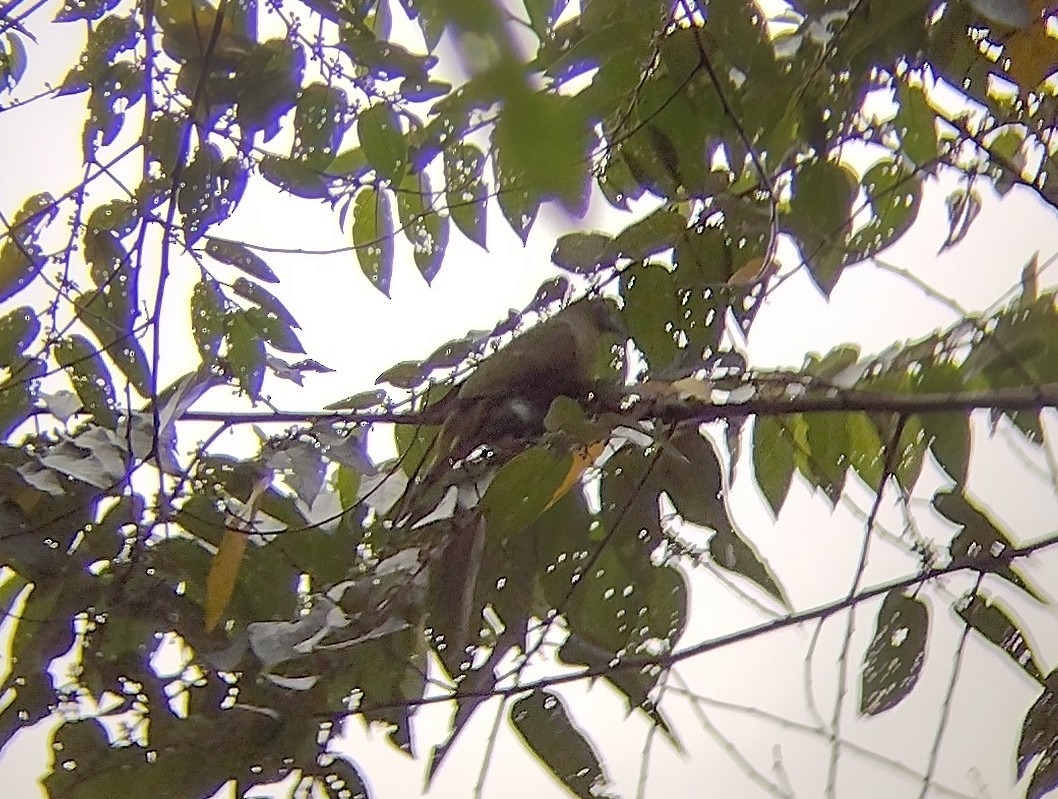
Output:
<path fill-rule="evenodd" d="M 886 595 L 860 675 L 860 712 L 877 715 L 915 687 L 926 660 L 929 610 L 899 591 Z"/>

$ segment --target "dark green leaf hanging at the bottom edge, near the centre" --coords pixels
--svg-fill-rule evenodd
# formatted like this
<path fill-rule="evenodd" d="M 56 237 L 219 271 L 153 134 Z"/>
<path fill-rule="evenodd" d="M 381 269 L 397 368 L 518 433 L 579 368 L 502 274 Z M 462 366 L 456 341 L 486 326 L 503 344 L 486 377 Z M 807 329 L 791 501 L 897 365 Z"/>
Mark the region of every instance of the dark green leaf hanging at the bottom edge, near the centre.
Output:
<path fill-rule="evenodd" d="M 573 725 L 557 693 L 533 691 L 513 703 L 510 712 L 522 740 L 573 796 L 610 796 L 608 778 L 595 747 Z"/>

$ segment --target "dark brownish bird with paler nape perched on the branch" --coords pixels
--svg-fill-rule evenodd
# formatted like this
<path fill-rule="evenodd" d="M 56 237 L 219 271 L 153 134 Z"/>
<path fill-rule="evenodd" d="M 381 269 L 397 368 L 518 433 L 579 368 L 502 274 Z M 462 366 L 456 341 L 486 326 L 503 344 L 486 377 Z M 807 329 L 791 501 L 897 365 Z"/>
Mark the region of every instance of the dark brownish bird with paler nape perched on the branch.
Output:
<path fill-rule="evenodd" d="M 617 306 L 582 299 L 516 337 L 422 413 L 439 424 L 434 464 L 454 465 L 482 444 L 529 438 L 544 431 L 555 398 L 584 401 L 616 377 L 609 347 L 625 335 Z"/>

